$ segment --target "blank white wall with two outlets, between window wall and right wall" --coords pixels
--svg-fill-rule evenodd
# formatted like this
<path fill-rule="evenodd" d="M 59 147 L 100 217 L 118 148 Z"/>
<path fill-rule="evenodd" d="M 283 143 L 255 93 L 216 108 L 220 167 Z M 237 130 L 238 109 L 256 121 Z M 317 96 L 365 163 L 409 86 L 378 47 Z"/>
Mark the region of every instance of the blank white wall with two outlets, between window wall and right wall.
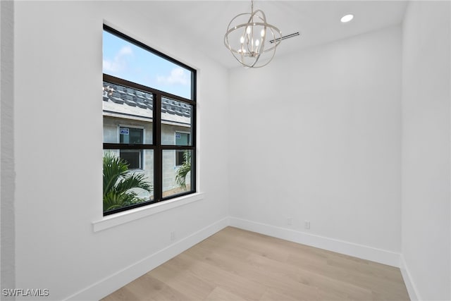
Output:
<path fill-rule="evenodd" d="M 237 68 L 229 81 L 237 224 L 382 262 L 400 252 L 400 26 Z"/>

